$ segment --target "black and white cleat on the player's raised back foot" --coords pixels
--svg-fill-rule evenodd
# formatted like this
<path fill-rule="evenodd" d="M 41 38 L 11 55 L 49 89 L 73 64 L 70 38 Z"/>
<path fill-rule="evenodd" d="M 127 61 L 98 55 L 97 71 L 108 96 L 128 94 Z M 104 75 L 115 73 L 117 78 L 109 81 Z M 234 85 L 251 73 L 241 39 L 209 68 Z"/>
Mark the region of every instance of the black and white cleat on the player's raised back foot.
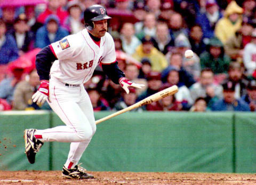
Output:
<path fill-rule="evenodd" d="M 25 154 L 27 155 L 28 162 L 35 163 L 36 153 L 43 146 L 43 142 L 35 138 L 34 133 L 36 129 L 26 129 L 24 131 L 25 139 Z"/>

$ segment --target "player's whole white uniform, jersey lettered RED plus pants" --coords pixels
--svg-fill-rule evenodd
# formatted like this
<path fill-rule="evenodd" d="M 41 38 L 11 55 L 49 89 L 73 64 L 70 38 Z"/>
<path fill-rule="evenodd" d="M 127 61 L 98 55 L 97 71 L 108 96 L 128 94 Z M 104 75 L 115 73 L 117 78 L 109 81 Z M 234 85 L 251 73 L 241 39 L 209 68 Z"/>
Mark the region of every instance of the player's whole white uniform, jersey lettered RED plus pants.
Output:
<path fill-rule="evenodd" d="M 51 67 L 47 102 L 66 125 L 37 130 L 35 135 L 42 136 L 40 140 L 43 142 L 71 142 L 65 166 L 73 167 L 96 131 L 93 107 L 83 83 L 92 77 L 100 62 L 110 64 L 116 61 L 114 40 L 106 32 L 99 47 L 84 29 L 50 47 L 58 60 Z M 78 86 L 69 87 L 65 83 Z"/>

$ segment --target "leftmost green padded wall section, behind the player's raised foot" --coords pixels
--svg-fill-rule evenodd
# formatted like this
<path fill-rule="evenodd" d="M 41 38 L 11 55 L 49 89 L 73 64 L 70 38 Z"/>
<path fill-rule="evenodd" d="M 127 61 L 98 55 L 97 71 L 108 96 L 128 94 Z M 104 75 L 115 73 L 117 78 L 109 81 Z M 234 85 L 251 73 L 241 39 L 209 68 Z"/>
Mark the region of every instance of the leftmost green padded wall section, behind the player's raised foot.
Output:
<path fill-rule="evenodd" d="M 36 156 L 36 163 L 30 164 L 23 139 L 25 129 L 46 129 L 49 123 L 50 114 L 41 111 L 0 113 L 0 169 L 49 170 L 50 143 L 44 144 Z"/>

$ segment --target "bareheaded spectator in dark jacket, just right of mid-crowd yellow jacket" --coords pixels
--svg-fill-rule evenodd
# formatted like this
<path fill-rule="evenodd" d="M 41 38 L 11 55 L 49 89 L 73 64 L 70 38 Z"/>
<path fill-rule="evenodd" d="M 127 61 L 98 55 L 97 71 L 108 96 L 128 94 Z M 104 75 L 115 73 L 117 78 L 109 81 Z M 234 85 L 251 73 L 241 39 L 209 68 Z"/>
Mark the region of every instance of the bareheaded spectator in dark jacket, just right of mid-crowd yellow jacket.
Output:
<path fill-rule="evenodd" d="M 165 22 L 156 24 L 155 47 L 164 55 L 174 47 L 174 38 L 171 38 L 169 28 Z"/>

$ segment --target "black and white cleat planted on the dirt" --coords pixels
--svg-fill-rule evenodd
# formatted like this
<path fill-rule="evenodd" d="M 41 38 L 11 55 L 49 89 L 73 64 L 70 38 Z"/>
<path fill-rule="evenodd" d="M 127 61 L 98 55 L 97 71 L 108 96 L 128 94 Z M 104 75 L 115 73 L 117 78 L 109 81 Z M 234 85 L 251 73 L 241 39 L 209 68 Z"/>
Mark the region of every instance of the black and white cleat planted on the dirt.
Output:
<path fill-rule="evenodd" d="M 63 166 L 62 176 L 68 179 L 93 179 L 94 176 L 85 172 L 86 170 L 79 165 L 76 165 L 73 169 L 67 169 Z"/>

